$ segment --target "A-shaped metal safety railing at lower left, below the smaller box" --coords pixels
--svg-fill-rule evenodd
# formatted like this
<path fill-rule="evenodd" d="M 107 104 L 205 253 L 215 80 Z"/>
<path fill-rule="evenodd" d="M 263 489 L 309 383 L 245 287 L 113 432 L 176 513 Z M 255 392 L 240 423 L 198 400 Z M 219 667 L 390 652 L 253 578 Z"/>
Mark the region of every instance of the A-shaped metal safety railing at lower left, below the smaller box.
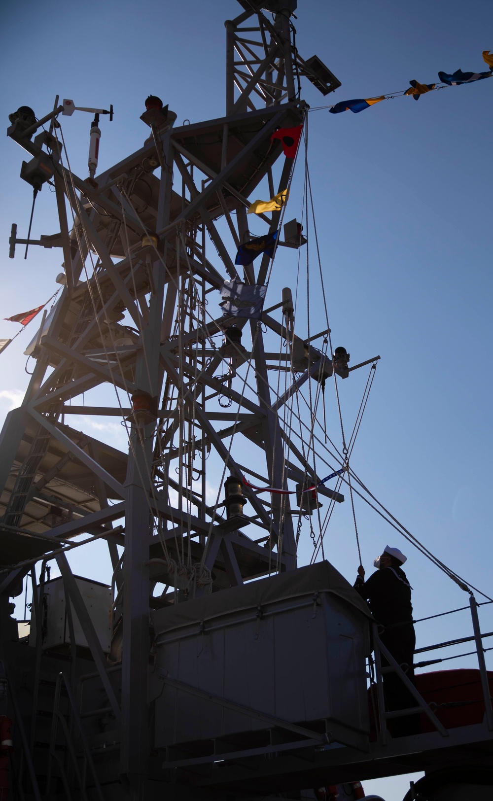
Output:
<path fill-rule="evenodd" d="M 72 721 L 74 723 L 75 728 L 78 731 L 80 743 L 83 749 L 82 754 L 79 754 L 76 751 L 75 743 L 71 737 L 71 731 L 68 727 L 67 720 L 63 712 L 60 710 L 60 695 L 62 690 L 62 683 L 65 685 L 65 690 L 67 691 L 68 701 L 71 706 Z M 67 801 L 71 801 L 71 799 L 73 798 L 73 795 L 71 793 L 71 784 L 73 787 L 73 782 L 71 782 L 71 779 L 69 777 L 69 771 L 67 769 L 68 766 L 66 764 L 66 759 L 63 759 L 59 751 L 57 751 L 57 736 L 59 733 L 59 727 L 63 731 L 63 736 L 65 739 L 65 743 L 67 745 L 66 755 L 67 758 L 70 758 L 70 760 L 68 761 L 71 767 L 71 772 L 72 775 L 75 777 L 75 783 L 77 783 L 79 786 L 78 790 L 80 791 L 80 796 L 82 797 L 83 801 L 88 801 L 88 796 L 87 796 L 88 773 L 92 779 L 91 798 L 94 797 L 93 791 L 95 791 L 99 801 L 104 801 L 103 791 L 101 790 L 101 785 L 99 783 L 98 775 L 95 771 L 95 765 L 91 756 L 91 748 L 89 747 L 86 734 L 83 730 L 83 723 L 79 715 L 79 710 L 77 709 L 77 704 L 75 702 L 74 694 L 72 692 L 71 682 L 64 673 L 59 673 L 55 686 L 55 702 L 53 706 L 53 718 L 51 723 L 50 751 L 49 751 L 48 770 L 46 775 L 45 794 L 46 798 L 50 797 L 51 782 L 53 779 L 53 766 L 55 763 L 59 768 L 60 779 L 62 780 L 63 783 L 63 790 L 65 797 L 67 798 Z M 81 762 L 82 766 L 80 764 Z"/>

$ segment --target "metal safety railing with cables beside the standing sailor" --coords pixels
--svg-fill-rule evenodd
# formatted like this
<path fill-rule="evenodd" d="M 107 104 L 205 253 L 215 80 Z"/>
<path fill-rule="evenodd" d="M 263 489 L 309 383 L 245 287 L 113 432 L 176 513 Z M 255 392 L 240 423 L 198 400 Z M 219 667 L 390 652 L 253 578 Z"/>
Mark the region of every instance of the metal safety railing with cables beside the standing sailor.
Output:
<path fill-rule="evenodd" d="M 482 700 L 484 702 L 485 708 L 485 720 L 487 723 L 487 728 L 489 731 L 493 731 L 493 707 L 491 705 L 491 693 L 487 675 L 487 667 L 485 662 L 484 654 L 488 650 L 493 650 L 493 646 L 489 648 L 483 647 L 483 639 L 488 637 L 493 637 L 493 631 L 488 631 L 485 634 L 482 634 L 480 626 L 479 626 L 479 616 L 478 616 L 478 607 L 479 606 L 487 606 L 491 602 L 486 602 L 483 604 L 478 604 L 474 595 L 471 594 L 469 606 L 462 606 L 456 610 L 450 610 L 447 612 L 442 612 L 435 615 L 430 615 L 427 618 L 420 618 L 418 620 L 414 620 L 413 623 L 420 623 L 424 621 L 431 620 L 433 618 L 442 618 L 444 615 L 447 614 L 455 614 L 456 612 L 462 612 L 464 610 L 469 609 L 471 612 L 471 622 L 472 622 L 472 630 L 473 634 L 468 637 L 461 637 L 455 638 L 451 640 L 447 640 L 445 642 L 438 642 L 434 643 L 430 646 L 425 646 L 421 648 L 417 648 L 414 650 L 414 654 L 422 654 L 427 653 L 433 650 L 438 650 L 440 648 L 446 648 L 449 646 L 458 645 L 465 642 L 474 642 L 475 643 L 475 650 L 467 651 L 464 654 L 454 654 L 452 656 L 436 658 L 436 659 L 427 659 L 422 662 L 414 662 L 412 668 L 422 668 L 427 667 L 430 665 L 435 665 L 440 662 L 447 662 L 449 659 L 457 659 L 461 657 L 467 657 L 476 654 L 478 659 L 478 667 L 479 667 L 479 677 L 481 682 L 481 690 L 482 690 Z M 398 626 L 409 626 L 409 623 L 402 623 L 402 624 L 394 624 L 393 626 L 389 626 L 388 628 L 396 628 Z M 376 699 L 377 704 L 374 706 L 374 718 L 375 724 L 378 726 L 378 739 L 382 745 L 386 745 L 388 742 L 389 731 L 387 728 L 387 721 L 392 718 L 405 718 L 409 715 L 416 715 L 420 713 L 426 714 L 427 718 L 430 719 L 434 729 L 438 731 L 442 737 L 447 737 L 448 731 L 445 727 L 443 727 L 442 723 L 438 720 L 436 714 L 434 714 L 434 710 L 431 709 L 430 705 L 422 698 L 422 695 L 419 694 L 414 682 L 412 682 L 409 676 L 406 675 L 406 671 L 411 666 L 407 665 L 399 665 L 394 656 L 390 653 L 388 648 L 382 642 L 380 638 L 381 627 L 375 625 L 373 631 L 373 641 L 374 641 L 374 664 L 373 660 L 370 658 L 370 686 L 375 686 L 376 688 Z M 382 665 L 382 657 L 386 660 L 386 665 Z M 375 668 L 375 670 L 373 669 Z M 406 688 L 408 693 L 414 698 L 415 706 L 408 706 L 407 708 L 402 708 L 398 710 L 390 710 L 388 709 L 388 703 L 386 700 L 386 690 L 385 690 L 385 675 L 389 673 L 394 673 L 402 682 L 402 686 Z M 374 694 L 371 694 L 372 701 L 374 702 Z"/>

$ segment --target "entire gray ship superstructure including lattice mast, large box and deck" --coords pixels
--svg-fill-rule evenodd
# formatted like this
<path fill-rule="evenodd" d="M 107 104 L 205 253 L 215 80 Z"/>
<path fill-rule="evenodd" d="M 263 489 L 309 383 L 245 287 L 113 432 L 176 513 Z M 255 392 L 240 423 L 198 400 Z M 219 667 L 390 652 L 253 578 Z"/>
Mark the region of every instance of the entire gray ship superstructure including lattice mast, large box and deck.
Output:
<path fill-rule="evenodd" d="M 295 401 L 360 365 L 332 347 L 328 325 L 297 332 L 289 287 L 265 296 L 277 253 L 304 247 L 301 221 L 279 203 L 255 237 L 247 210 L 265 178 L 271 198 L 289 193 L 301 79 L 324 95 L 340 83 L 297 52 L 294 0 L 240 6 L 226 22 L 220 119 L 178 126 L 150 96 L 143 147 L 98 174 L 105 110 L 92 109 L 83 179 L 63 139 L 73 101 L 39 120 L 27 107 L 11 115 L 30 158 L 22 177 L 35 193 L 55 187 L 60 231 L 39 244 L 63 252 L 63 291 L 0 441 L 1 658 L 26 799 L 253 799 L 491 754 L 475 602 L 484 720 L 449 731 L 413 688 L 430 726 L 417 745 L 389 737 L 381 651 L 400 669 L 366 605 L 328 562 L 297 568 L 302 518 L 344 501 L 348 449 L 321 473 L 299 409 L 306 449 L 293 436 Z M 13 231 L 12 255 L 18 242 Z M 214 290 L 222 310 L 208 304 Z M 106 405 L 71 405 L 103 385 Z M 72 428 L 73 414 L 121 421 L 127 453 Z M 75 576 L 64 553 L 95 538 L 111 554 L 109 588 Z M 28 575 L 22 642 L 8 598 Z"/>

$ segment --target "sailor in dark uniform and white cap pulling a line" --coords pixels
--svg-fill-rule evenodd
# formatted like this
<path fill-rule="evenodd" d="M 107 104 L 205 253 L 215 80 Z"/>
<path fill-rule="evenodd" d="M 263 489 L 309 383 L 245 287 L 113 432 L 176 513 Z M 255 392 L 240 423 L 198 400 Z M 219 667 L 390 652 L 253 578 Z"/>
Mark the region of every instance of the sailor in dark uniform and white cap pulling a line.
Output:
<path fill-rule="evenodd" d="M 410 682 L 414 682 L 414 647 L 416 635 L 413 626 L 413 607 L 411 606 L 412 587 L 407 581 L 402 565 L 406 562 L 398 548 L 386 545 L 381 556 L 374 560 L 378 570 L 365 581 L 365 568 L 358 567 L 358 578 L 354 589 L 368 601 L 370 611 L 378 622 L 379 637 L 390 651 Z M 382 654 L 382 666 L 389 666 Z M 416 706 L 410 691 L 394 671 L 383 674 L 383 687 L 387 710 L 409 709 Z M 394 737 L 417 734 L 419 717 L 406 715 L 394 718 L 390 725 Z"/>

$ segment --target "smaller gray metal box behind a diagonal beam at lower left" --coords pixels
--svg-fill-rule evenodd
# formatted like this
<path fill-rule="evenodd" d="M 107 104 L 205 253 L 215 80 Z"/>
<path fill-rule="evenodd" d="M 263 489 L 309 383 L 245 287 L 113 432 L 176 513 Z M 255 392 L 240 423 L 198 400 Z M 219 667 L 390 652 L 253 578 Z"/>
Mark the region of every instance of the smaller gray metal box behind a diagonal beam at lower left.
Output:
<path fill-rule="evenodd" d="M 107 584 L 91 582 L 88 578 L 82 578 L 81 576 L 75 576 L 74 578 L 91 617 L 92 624 L 95 627 L 101 647 L 105 653 L 109 653 L 111 645 L 111 588 Z M 43 627 L 46 630 L 46 634 L 42 641 L 42 648 L 52 649 L 65 646 L 70 643 L 71 638 L 67 620 L 67 596 L 63 586 L 63 578 L 54 578 L 51 582 L 46 582 L 44 595 L 46 596 L 46 606 L 43 609 Z M 72 605 L 71 610 L 74 620 L 75 644 L 87 648 L 86 636 Z M 35 638 L 36 625 L 34 614 L 32 614 L 29 638 L 31 646 L 35 644 Z"/>

